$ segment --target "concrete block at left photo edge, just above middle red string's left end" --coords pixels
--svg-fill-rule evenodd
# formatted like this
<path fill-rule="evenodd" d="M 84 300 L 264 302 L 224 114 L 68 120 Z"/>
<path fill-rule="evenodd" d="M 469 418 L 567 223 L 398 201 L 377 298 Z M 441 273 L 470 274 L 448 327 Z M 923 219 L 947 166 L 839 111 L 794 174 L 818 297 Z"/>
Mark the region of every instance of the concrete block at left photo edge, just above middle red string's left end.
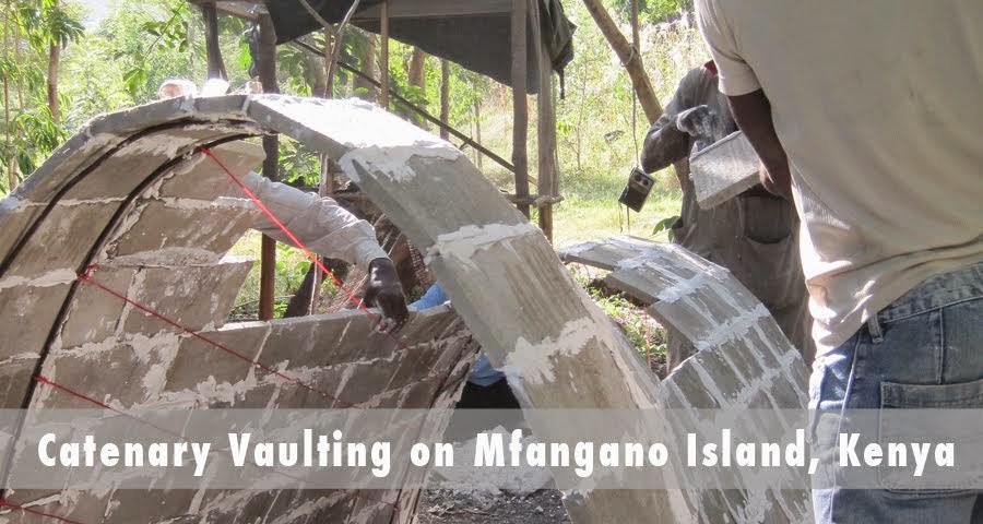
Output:
<path fill-rule="evenodd" d="M 40 354 L 70 288 L 68 283 L 0 289 L 0 361 L 14 355 Z"/>

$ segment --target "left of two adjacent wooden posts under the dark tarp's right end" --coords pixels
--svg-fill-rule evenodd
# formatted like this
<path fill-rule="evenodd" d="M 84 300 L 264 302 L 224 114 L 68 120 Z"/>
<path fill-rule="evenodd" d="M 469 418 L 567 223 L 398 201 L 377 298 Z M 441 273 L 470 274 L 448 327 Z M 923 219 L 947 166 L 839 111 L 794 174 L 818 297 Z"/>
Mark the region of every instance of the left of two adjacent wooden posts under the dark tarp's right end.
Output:
<path fill-rule="evenodd" d="M 516 196 L 529 196 L 529 108 L 525 99 L 526 87 L 526 3 L 512 0 L 512 165 L 516 166 Z M 529 205 L 519 204 L 519 212 L 529 215 Z"/>

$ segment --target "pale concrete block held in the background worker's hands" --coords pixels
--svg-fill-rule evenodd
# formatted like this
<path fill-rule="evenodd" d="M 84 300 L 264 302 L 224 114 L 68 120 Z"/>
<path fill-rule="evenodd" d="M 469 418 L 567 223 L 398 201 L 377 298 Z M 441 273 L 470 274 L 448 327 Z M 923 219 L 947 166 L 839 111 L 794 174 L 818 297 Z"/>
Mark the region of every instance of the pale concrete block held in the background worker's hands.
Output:
<path fill-rule="evenodd" d="M 710 209 L 758 183 L 761 162 L 744 133 L 737 131 L 689 158 L 697 203 Z"/>

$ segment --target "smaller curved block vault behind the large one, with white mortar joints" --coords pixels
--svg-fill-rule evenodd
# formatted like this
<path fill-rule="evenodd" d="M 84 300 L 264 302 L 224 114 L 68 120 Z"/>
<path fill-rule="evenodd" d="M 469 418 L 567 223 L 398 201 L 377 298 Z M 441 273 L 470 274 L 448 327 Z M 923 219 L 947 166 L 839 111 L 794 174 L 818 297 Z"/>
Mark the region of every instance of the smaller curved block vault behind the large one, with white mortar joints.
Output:
<path fill-rule="evenodd" d="M 674 424 L 698 428 L 702 421 L 698 418 L 706 414 L 700 409 L 806 406 L 808 369 L 800 352 L 765 306 L 724 267 L 680 246 L 633 237 L 584 242 L 568 248 L 560 258 L 608 271 L 607 285 L 649 305 L 649 314 L 697 348 L 659 384 L 660 407 L 673 409 L 673 415 L 691 413 L 695 418 Z M 765 434 L 762 430 L 762 441 L 768 440 Z M 685 474 L 683 469 L 680 475 Z M 721 473 L 722 478 L 725 475 Z M 805 490 L 686 495 L 698 522 L 813 521 Z"/>

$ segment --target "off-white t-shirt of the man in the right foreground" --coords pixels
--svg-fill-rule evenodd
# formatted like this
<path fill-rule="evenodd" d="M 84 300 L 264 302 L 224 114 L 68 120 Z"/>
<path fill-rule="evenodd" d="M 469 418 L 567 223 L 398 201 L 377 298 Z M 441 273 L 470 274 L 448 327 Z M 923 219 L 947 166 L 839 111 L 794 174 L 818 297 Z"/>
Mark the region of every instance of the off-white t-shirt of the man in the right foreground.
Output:
<path fill-rule="evenodd" d="M 818 350 L 983 260 L 983 0 L 697 0 L 721 91 L 763 90 Z"/>

